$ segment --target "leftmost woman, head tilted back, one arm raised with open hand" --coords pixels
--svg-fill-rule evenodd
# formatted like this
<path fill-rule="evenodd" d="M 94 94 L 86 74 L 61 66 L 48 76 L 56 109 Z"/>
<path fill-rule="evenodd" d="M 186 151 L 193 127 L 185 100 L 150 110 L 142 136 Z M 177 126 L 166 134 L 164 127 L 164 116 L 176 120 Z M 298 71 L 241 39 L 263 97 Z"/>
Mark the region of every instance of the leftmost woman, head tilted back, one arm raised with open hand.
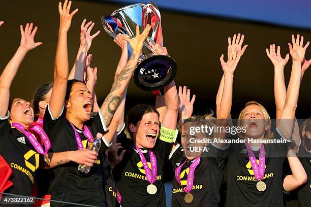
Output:
<path fill-rule="evenodd" d="M 9 101 L 10 86 L 21 61 L 28 51 L 42 45 L 41 42 L 34 41 L 38 27 L 33 28 L 33 26 L 33 23 L 27 23 L 23 29 L 20 25 L 20 46 L 0 76 L 0 154 L 13 171 L 13 176 L 10 178 L 13 186 L 6 193 L 25 196 L 32 195 L 39 163 L 50 148 L 43 129 L 30 127 L 34 122 L 34 111 L 30 103 L 22 98 Z M 34 133 L 46 141 L 45 147 L 37 142 Z M 2 205 L 5 204 L 5 201 L 2 202 Z"/>

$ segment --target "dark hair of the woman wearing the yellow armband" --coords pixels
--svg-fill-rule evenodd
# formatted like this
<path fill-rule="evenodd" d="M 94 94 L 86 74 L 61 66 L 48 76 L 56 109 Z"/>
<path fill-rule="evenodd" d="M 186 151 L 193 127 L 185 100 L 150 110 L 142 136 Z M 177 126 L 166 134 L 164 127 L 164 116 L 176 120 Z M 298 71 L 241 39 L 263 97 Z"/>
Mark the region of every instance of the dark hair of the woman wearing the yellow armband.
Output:
<path fill-rule="evenodd" d="M 130 124 L 136 125 L 142 119 L 144 114 L 147 114 L 147 113 L 156 113 L 160 117 L 159 112 L 151 105 L 139 104 L 139 105 L 132 107 L 132 109 L 128 112 L 127 120 L 126 120 L 127 132 L 129 133 L 127 134 L 128 138 L 132 137 L 133 135 L 133 133 L 130 130 Z"/>

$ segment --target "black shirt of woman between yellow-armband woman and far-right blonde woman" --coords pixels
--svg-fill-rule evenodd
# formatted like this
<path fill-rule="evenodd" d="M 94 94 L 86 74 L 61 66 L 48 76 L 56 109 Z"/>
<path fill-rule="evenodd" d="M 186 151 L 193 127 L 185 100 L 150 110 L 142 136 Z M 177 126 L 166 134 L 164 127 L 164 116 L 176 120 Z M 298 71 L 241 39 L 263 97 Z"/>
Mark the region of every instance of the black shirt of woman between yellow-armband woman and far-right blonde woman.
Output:
<path fill-rule="evenodd" d="M 200 164 L 194 172 L 194 182 L 190 193 L 193 195 L 193 201 L 186 203 L 184 196 L 186 193 L 182 188 L 186 188 L 189 167 L 194 160 L 186 160 L 180 170 L 180 184 L 175 178 L 175 169 L 186 159 L 183 148 L 177 144 L 170 155 L 170 161 L 174 170 L 173 188 L 172 188 L 172 206 L 217 206 L 220 202 L 220 186 L 223 181 L 223 168 L 225 165 L 227 149 L 218 149 L 213 145 L 206 146 L 203 151 Z"/>

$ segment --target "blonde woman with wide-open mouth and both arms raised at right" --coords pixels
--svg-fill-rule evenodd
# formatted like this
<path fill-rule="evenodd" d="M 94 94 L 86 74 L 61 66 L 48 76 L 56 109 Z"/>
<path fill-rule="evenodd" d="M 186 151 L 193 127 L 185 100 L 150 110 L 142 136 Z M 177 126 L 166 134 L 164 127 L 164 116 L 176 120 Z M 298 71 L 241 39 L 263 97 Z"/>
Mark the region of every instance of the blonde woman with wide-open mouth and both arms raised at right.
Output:
<path fill-rule="evenodd" d="M 228 61 L 223 55 L 221 64 L 224 71 L 222 103 L 219 113 L 230 117 L 232 105 L 233 73 L 241 56 L 240 35 L 233 38 L 233 47 L 228 48 Z M 249 101 L 241 111 L 238 126 L 244 127 L 239 137 L 241 144 L 231 144 L 226 160 L 227 205 L 228 206 L 284 206 L 283 205 L 283 162 L 292 142 L 292 129 L 301 81 L 301 63 L 309 43 L 303 47 L 303 38 L 290 44 L 293 59 L 292 74 L 286 94 L 284 109 L 276 124 L 276 132 L 271 133 L 271 120 L 266 109 L 256 101 Z M 231 41 L 229 41 L 231 45 Z M 273 143 L 273 142 L 274 143 Z M 257 161 L 258 160 L 258 161 Z"/>

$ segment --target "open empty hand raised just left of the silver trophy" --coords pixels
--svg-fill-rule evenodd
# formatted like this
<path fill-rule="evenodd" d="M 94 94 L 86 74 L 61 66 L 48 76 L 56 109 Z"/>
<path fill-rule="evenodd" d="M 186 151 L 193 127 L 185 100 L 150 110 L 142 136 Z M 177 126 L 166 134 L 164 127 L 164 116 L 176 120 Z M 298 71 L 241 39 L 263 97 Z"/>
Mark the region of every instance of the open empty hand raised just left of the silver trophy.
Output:
<path fill-rule="evenodd" d="M 94 27 L 95 23 L 90 21 L 87 24 L 85 24 L 85 22 L 86 22 L 86 19 L 83 20 L 81 27 L 80 27 L 80 44 L 81 46 L 87 48 L 87 51 L 88 51 L 92 44 L 92 40 L 96 38 L 101 31 L 98 30 L 95 34 L 90 35 L 90 32 L 92 28 Z"/>

